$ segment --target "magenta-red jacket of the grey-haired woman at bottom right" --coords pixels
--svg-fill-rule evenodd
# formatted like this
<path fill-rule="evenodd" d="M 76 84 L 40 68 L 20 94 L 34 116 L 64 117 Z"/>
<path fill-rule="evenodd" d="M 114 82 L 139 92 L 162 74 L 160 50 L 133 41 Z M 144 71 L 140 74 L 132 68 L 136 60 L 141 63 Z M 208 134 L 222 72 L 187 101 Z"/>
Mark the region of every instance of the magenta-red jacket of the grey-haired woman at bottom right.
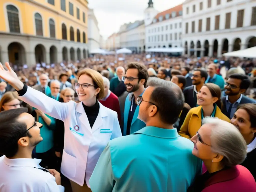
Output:
<path fill-rule="evenodd" d="M 203 173 L 206 168 L 203 165 Z M 250 171 L 236 165 L 213 175 L 205 183 L 202 192 L 255 192 L 256 183 Z"/>

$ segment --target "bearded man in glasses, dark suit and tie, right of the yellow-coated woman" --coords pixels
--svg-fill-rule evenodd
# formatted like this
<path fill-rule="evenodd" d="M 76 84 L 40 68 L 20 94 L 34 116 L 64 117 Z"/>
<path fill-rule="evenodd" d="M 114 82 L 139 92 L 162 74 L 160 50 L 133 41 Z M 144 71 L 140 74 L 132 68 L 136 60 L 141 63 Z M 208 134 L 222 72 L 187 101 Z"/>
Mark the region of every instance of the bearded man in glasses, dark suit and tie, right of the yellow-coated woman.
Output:
<path fill-rule="evenodd" d="M 242 95 L 249 88 L 251 81 L 244 74 L 232 74 L 225 83 L 226 97 L 222 98 L 221 112 L 228 118 L 232 119 L 239 104 L 256 103 L 254 99 L 250 99 Z"/>

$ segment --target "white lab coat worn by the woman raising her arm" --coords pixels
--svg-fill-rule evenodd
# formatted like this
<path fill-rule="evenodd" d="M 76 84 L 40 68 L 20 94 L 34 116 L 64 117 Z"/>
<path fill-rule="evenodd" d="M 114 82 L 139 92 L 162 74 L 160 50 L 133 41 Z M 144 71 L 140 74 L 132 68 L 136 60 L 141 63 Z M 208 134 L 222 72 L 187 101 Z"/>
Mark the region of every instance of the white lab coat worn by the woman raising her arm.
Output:
<path fill-rule="evenodd" d="M 99 114 L 91 128 L 82 102 L 60 103 L 31 87 L 20 98 L 64 122 L 61 173 L 81 186 L 86 180 L 90 187 L 89 179 L 104 148 L 111 139 L 122 136 L 117 113 L 99 102 Z"/>

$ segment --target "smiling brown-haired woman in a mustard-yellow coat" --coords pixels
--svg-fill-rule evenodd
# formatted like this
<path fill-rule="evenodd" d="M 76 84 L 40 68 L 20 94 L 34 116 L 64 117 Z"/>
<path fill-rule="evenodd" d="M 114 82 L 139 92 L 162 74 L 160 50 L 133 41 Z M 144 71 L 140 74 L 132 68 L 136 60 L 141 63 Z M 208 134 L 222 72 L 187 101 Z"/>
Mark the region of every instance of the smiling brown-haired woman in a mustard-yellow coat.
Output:
<path fill-rule="evenodd" d="M 230 119 L 221 112 L 221 90 L 214 83 L 206 83 L 197 93 L 198 107 L 189 110 L 179 135 L 190 139 L 196 135 L 202 126 L 202 119 L 206 116 L 217 117 L 230 122 Z"/>

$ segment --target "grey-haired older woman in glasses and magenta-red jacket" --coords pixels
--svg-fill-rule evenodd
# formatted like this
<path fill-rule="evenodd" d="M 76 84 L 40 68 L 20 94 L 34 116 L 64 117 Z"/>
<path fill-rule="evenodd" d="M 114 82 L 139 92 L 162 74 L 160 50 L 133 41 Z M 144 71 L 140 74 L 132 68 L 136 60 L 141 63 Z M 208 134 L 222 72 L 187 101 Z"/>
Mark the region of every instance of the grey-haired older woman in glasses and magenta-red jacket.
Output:
<path fill-rule="evenodd" d="M 206 117 L 197 134 L 193 155 L 204 162 L 202 175 L 188 192 L 253 192 L 255 180 L 250 171 L 239 165 L 246 158 L 247 145 L 238 129 L 218 118 Z"/>

